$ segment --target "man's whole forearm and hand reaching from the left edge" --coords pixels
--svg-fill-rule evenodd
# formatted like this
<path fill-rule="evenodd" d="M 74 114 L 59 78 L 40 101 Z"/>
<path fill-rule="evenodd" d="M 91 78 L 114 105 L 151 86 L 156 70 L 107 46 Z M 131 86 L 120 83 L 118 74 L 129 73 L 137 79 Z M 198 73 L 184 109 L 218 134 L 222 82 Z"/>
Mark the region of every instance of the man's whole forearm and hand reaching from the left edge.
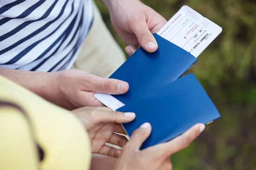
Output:
<path fill-rule="evenodd" d="M 68 110 L 103 106 L 93 96 L 95 92 L 125 94 L 129 88 L 127 82 L 97 77 L 76 69 L 45 73 L 0 68 L 0 74 Z"/>

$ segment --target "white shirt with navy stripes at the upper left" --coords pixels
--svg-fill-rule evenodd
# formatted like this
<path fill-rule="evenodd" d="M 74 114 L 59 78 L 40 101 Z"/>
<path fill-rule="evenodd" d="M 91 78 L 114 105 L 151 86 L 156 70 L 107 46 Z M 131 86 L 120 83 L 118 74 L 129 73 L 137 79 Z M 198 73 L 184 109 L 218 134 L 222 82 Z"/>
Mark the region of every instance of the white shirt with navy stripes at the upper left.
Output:
<path fill-rule="evenodd" d="M 71 68 L 92 20 L 91 0 L 0 0 L 0 67 Z"/>

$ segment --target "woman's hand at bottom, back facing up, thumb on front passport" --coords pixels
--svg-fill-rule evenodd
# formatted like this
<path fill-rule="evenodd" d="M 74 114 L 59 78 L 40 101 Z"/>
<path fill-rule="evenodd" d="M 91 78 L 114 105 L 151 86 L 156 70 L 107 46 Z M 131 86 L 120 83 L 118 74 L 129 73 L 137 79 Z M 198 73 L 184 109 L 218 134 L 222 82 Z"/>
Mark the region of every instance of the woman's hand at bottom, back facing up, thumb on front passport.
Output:
<path fill-rule="evenodd" d="M 115 170 L 172 170 L 170 156 L 188 147 L 204 128 L 204 124 L 197 124 L 169 142 L 140 150 L 151 133 L 150 124 L 145 123 L 134 131 L 130 141 L 123 147 Z"/>

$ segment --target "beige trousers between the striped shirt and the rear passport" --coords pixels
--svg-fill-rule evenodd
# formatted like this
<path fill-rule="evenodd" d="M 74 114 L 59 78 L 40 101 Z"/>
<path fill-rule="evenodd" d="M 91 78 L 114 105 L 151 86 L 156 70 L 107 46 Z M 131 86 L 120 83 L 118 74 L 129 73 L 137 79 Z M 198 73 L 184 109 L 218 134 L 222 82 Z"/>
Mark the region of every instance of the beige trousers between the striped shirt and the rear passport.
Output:
<path fill-rule="evenodd" d="M 108 78 L 123 62 L 125 54 L 112 37 L 99 9 L 95 6 L 93 24 L 73 68 Z"/>

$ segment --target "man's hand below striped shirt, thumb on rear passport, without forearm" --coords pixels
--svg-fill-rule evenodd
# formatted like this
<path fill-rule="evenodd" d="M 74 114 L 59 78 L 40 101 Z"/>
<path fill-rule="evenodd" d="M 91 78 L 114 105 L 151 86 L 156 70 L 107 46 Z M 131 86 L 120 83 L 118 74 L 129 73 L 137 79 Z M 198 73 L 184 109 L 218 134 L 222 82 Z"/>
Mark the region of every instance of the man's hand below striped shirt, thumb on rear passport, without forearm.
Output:
<path fill-rule="evenodd" d="M 129 85 L 117 79 L 106 79 L 76 69 L 58 73 L 55 80 L 58 96 L 52 102 L 69 110 L 84 106 L 103 106 L 95 93 L 125 94 Z"/>

